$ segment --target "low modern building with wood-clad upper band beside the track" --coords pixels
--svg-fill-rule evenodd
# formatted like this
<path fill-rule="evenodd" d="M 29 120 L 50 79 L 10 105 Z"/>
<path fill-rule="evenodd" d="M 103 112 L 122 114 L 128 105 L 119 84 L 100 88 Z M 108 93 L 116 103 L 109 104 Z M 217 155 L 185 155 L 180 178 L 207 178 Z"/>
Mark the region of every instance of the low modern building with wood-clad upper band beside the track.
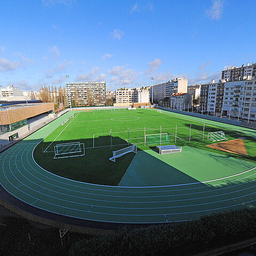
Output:
<path fill-rule="evenodd" d="M 54 104 L 25 103 L 0 107 L 0 149 L 29 132 L 28 119 L 54 113 Z"/>

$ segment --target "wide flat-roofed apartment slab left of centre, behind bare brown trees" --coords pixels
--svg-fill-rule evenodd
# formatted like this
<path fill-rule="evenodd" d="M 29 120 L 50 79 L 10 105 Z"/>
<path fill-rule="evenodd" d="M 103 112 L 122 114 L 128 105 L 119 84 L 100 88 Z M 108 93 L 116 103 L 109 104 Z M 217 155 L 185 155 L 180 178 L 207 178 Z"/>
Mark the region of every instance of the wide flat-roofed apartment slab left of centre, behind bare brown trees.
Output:
<path fill-rule="evenodd" d="M 68 83 L 67 96 L 75 106 L 103 106 L 106 103 L 106 82 Z"/>

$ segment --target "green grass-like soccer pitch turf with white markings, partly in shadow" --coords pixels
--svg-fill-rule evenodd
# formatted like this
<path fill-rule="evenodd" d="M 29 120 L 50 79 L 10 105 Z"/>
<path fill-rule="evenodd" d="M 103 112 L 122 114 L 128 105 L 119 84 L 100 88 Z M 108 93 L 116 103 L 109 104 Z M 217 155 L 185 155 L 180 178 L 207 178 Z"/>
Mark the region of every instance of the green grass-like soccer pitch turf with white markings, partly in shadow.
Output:
<path fill-rule="evenodd" d="M 91 110 L 87 112 L 73 111 L 73 113 L 74 118 L 70 118 L 65 125 L 57 127 L 34 150 L 34 158 L 38 165 L 49 172 L 68 179 L 117 186 L 132 162 L 134 153 L 126 154 L 117 158 L 116 162 L 112 162 L 109 160 L 113 156 L 112 150 L 128 146 L 127 141 L 138 143 L 138 150 L 155 149 L 160 142 L 153 144 L 149 140 L 151 143 L 145 145 L 145 131 L 146 134 L 166 133 L 169 141 L 164 141 L 164 145 L 195 147 L 224 156 L 256 161 L 256 140 L 245 134 L 246 129 L 242 127 L 167 111 L 158 113 L 156 109 Z M 176 125 L 177 138 L 175 143 Z M 244 143 L 248 156 L 225 153 L 205 147 L 211 143 L 216 143 L 207 140 L 207 133 L 216 131 L 225 132 L 228 140 L 245 137 Z M 54 146 L 57 143 L 75 141 L 84 143 L 84 156 L 53 159 Z M 111 149 L 111 143 L 119 146 L 113 146 Z M 43 153 L 43 150 L 46 150 L 47 153 Z"/>

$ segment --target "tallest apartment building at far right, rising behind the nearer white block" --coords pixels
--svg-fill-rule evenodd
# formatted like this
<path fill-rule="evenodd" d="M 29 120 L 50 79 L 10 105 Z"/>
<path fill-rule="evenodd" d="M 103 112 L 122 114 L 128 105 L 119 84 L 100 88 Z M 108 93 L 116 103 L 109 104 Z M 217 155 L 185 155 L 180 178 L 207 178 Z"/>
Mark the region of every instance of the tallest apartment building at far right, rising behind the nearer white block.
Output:
<path fill-rule="evenodd" d="M 232 66 L 222 70 L 221 79 L 225 79 L 227 82 L 251 80 L 256 78 L 255 74 L 256 63 L 253 62 L 252 65 L 250 65 L 250 63 L 247 62 L 246 66 L 243 64 L 242 67 Z"/>

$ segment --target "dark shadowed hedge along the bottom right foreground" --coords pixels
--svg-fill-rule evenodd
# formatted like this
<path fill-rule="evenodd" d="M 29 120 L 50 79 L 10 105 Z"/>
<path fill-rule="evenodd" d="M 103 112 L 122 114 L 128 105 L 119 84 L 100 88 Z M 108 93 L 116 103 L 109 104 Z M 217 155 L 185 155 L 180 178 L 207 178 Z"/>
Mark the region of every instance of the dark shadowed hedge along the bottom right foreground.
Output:
<path fill-rule="evenodd" d="M 71 246 L 69 255 L 193 255 L 254 236 L 256 210 L 244 209 L 83 239 Z"/>

